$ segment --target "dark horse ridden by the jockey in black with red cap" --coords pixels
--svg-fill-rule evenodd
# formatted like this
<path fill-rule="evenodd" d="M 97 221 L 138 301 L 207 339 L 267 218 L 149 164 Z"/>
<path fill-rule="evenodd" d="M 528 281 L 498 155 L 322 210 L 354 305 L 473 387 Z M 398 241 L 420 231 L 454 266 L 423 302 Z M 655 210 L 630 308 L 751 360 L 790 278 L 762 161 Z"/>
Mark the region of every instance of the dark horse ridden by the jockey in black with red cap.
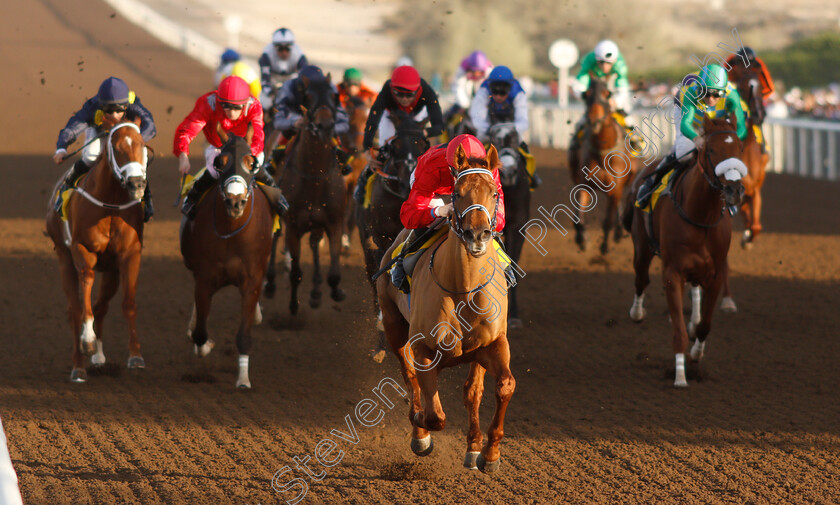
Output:
<path fill-rule="evenodd" d="M 376 282 L 371 277 L 382 262 L 385 251 L 394 243 L 402 231 L 400 208 L 411 192 L 411 180 L 417 160 L 429 147 L 429 140 L 423 134 L 427 120 L 415 121 L 403 111 L 391 115 L 395 135 L 380 148 L 386 155 L 386 161 L 377 170 L 370 195 L 370 206 L 356 208 L 356 221 L 359 223 L 359 240 L 365 255 L 365 270 L 374 295 L 374 310 L 379 312 L 376 302 Z M 377 353 L 379 358 L 385 354 L 384 338 L 380 339 Z M 377 361 L 380 361 L 377 358 Z"/>

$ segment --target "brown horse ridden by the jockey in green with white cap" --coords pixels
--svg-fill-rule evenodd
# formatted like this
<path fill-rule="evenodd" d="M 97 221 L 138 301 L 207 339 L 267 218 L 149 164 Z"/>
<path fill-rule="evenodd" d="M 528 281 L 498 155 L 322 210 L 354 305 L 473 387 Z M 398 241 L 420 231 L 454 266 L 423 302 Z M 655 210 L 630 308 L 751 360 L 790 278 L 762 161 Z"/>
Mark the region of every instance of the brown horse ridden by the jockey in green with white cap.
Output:
<path fill-rule="evenodd" d="M 610 106 L 611 92 L 607 83 L 592 78 L 584 94 L 586 102 L 586 123 L 579 149 L 570 149 L 569 170 L 575 185 L 584 184 L 607 197 L 607 208 L 602 229 L 601 254 L 609 252 L 609 235 L 618 242 L 621 229 L 619 210 L 625 186 L 633 180 L 639 161 L 625 142 L 624 128 L 616 121 Z M 614 154 L 618 153 L 618 154 Z M 623 155 L 623 156 L 622 156 Z M 630 160 L 629 165 L 626 160 Z M 614 165 L 617 165 L 613 168 Z M 597 182 L 596 182 L 597 181 Z M 585 218 L 581 208 L 591 204 L 589 192 L 581 191 L 579 205 L 575 206 L 575 243 L 581 251 L 586 250 Z"/>

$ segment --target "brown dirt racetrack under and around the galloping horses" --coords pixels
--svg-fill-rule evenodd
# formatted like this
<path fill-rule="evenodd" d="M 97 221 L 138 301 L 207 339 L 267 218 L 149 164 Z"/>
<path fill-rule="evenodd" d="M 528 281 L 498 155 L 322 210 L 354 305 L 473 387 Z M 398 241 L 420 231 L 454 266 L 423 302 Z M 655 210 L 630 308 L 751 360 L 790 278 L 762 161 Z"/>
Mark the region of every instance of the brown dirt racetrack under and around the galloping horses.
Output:
<path fill-rule="evenodd" d="M 192 279 L 177 243 L 172 134 L 210 72 L 98 1 L 14 2 L 0 19 L 0 416 L 25 503 L 838 503 L 840 502 L 840 185 L 771 175 L 765 233 L 752 251 L 733 240 L 732 288 L 740 311 L 718 312 L 707 355 L 675 390 L 659 276 L 648 318 L 628 317 L 632 252 L 578 252 L 549 231 L 543 257 L 526 244 L 520 290 L 526 326 L 511 334 L 517 389 L 496 476 L 461 467 L 466 368 L 447 370 L 447 429 L 428 458 L 409 447 L 407 406 L 375 427 L 345 416 L 397 363 L 376 364 L 362 257 L 346 258 L 348 299 L 289 315 L 281 284 L 254 331 L 253 390 L 234 390 L 238 295 L 215 298 L 204 360 L 186 338 Z M 350 63 L 350 62 L 348 62 Z M 138 328 L 147 368 L 125 369 L 119 295 L 111 304 L 110 366 L 71 384 L 72 336 L 58 265 L 44 229 L 48 191 L 65 168 L 50 155 L 58 130 L 108 75 L 123 77 L 154 113 L 164 154 L 152 165 L 157 215 L 146 228 Z M 43 79 L 43 81 L 42 81 Z M 10 113 L 11 112 L 11 113 Z M 196 149 L 196 151 L 198 151 Z M 537 205 L 568 203 L 560 153 L 537 150 L 545 184 Z M 198 165 L 198 159 L 195 160 Z M 740 228 L 740 225 L 739 225 Z M 596 235 L 593 228 L 593 238 Z M 654 272 L 658 262 L 654 262 Z M 304 270 L 304 296 L 311 270 Z M 489 386 L 489 384 L 488 384 Z M 492 386 L 482 405 L 493 411 Z M 396 399 L 396 393 L 389 395 Z M 336 466 L 314 460 L 313 481 L 293 458 L 331 437 Z"/>

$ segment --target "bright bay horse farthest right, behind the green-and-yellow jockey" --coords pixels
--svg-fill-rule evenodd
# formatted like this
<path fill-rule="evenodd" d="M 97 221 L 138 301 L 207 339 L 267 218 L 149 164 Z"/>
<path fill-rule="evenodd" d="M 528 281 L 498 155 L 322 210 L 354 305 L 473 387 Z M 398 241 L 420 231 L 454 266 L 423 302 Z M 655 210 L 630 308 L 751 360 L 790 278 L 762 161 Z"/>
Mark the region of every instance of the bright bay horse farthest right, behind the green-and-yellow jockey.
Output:
<path fill-rule="evenodd" d="M 741 212 L 744 214 L 744 234 L 741 237 L 741 247 L 752 247 L 753 241 L 761 233 L 761 187 L 770 155 L 762 152 L 756 139 L 756 127 L 761 128 L 764 122 L 764 103 L 762 102 L 762 85 L 758 73 L 751 68 L 735 66 L 731 70 L 731 78 L 738 87 L 738 94 L 749 106 L 750 115 L 747 119 L 747 138 L 744 140 L 744 154 L 742 160 L 747 165 L 747 176 L 741 181 L 744 184 L 744 201 Z M 766 139 L 765 139 L 766 142 Z"/>

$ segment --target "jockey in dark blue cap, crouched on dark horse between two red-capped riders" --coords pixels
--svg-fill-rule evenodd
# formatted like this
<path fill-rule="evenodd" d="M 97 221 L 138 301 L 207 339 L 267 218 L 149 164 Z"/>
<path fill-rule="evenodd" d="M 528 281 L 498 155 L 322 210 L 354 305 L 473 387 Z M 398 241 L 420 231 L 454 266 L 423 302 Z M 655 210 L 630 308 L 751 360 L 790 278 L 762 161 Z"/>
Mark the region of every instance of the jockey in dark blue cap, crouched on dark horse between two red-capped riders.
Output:
<path fill-rule="evenodd" d="M 274 100 L 274 109 L 277 114 L 274 116 L 274 129 L 277 132 L 277 140 L 272 138 L 269 141 L 269 146 L 272 147 L 270 151 L 272 154 L 275 166 L 279 166 L 280 161 L 285 156 L 285 150 L 274 152 L 273 146 L 276 144 L 284 145 L 297 133 L 303 126 L 305 121 L 303 117 L 303 98 L 304 90 L 309 82 L 324 81 L 327 77 L 324 76 L 320 68 L 314 65 L 307 65 L 302 68 L 300 74 L 286 81 L 283 88 L 277 94 Z M 333 91 L 338 94 L 335 85 L 332 85 Z M 338 135 L 350 131 L 350 122 L 347 119 L 347 112 L 340 104 L 337 104 L 335 110 L 335 145 L 336 157 L 341 167 L 341 174 L 347 175 L 350 173 L 351 167 L 347 164 L 350 159 L 350 154 L 340 147 Z"/>

